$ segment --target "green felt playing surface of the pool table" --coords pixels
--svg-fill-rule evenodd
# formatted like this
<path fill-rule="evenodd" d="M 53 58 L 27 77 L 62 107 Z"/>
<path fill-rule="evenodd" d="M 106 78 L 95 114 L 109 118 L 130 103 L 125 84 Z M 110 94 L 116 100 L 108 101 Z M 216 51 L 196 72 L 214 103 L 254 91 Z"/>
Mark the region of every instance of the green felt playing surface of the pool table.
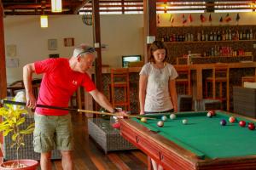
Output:
<path fill-rule="evenodd" d="M 169 115 L 164 127 L 158 127 L 157 120 L 148 122 L 135 121 L 148 127 L 150 130 L 159 131 L 159 134 L 170 139 L 197 156 L 214 158 L 251 156 L 256 155 L 256 130 L 240 127 L 237 122 L 230 123 L 229 116 L 218 112 L 217 116 L 207 117 L 207 112 L 179 113 L 175 120 Z M 183 125 L 182 120 L 187 119 L 188 124 Z M 220 121 L 225 119 L 226 126 L 221 126 Z M 246 122 L 252 122 L 246 119 Z M 256 122 L 254 122 L 256 123 Z"/>

